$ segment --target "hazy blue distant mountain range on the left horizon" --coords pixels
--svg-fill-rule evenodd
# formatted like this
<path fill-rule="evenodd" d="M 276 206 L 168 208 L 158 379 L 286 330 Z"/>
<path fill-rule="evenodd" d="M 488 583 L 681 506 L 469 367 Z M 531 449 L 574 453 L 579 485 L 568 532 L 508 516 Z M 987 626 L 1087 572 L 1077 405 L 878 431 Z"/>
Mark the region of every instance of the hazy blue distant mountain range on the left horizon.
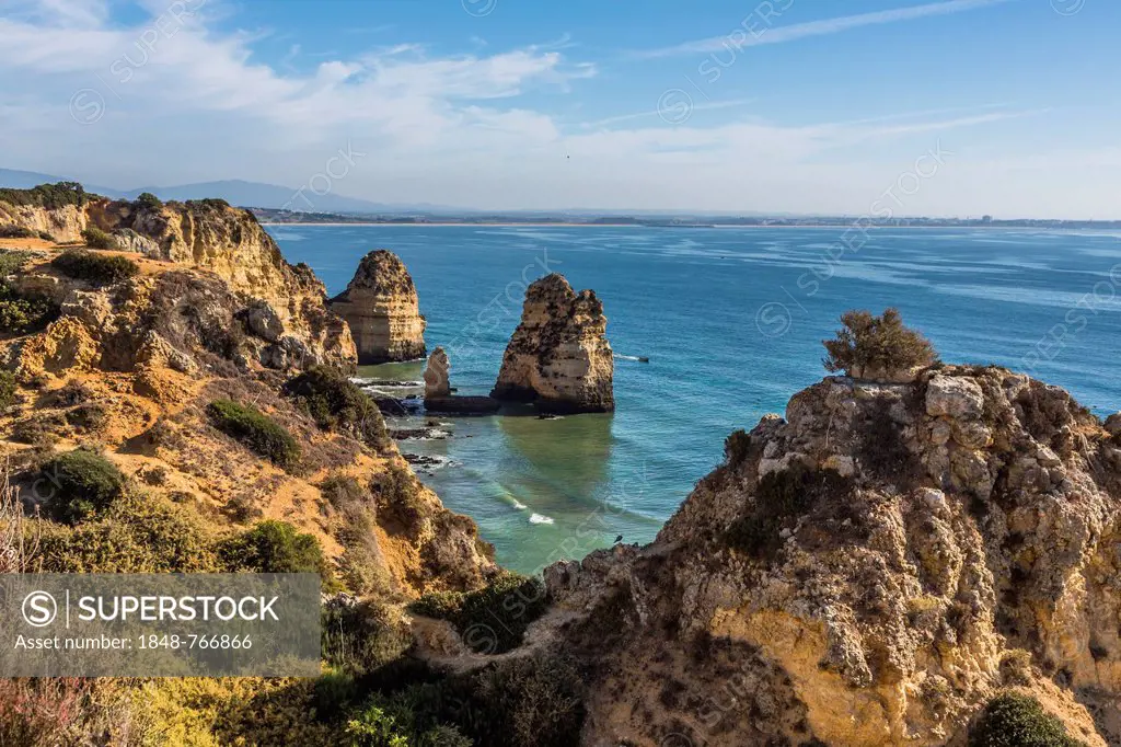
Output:
<path fill-rule="evenodd" d="M 28 190 L 39 184 L 53 184 L 55 182 L 81 181 L 71 179 L 53 174 L 39 174 L 36 172 L 20 172 L 10 168 L 0 168 L 0 186 L 13 187 L 17 190 Z M 460 208 L 448 208 L 446 205 L 418 204 L 386 204 L 348 197 L 340 194 L 313 194 L 304 190 L 307 201 L 297 196 L 294 187 L 280 186 L 277 184 L 263 184 L 260 182 L 244 182 L 231 179 L 228 182 L 201 182 L 197 184 L 180 184 L 178 186 L 143 186 L 135 190 L 119 190 L 115 187 L 101 186 L 96 184 L 85 184 L 86 191 L 113 197 L 114 200 L 136 200 L 142 192 L 151 192 L 160 200 L 204 200 L 206 197 L 217 197 L 225 200 L 239 208 L 263 208 L 266 210 L 280 210 L 288 205 L 293 211 L 314 211 L 317 213 L 342 213 L 342 214 L 380 214 L 392 213 L 395 215 L 409 213 L 433 213 L 433 212 L 472 212 Z M 311 204 L 308 204 L 311 203 Z"/>

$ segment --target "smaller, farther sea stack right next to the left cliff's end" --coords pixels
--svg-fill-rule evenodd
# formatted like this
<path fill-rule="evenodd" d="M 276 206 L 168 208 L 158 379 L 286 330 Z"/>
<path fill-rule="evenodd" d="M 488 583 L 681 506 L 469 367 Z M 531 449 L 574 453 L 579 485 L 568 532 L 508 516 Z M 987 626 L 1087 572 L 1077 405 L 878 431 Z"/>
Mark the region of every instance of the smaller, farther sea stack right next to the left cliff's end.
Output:
<path fill-rule="evenodd" d="M 371 251 L 331 311 L 350 324 L 360 366 L 424 358 L 425 320 L 405 264 L 391 251 Z"/>

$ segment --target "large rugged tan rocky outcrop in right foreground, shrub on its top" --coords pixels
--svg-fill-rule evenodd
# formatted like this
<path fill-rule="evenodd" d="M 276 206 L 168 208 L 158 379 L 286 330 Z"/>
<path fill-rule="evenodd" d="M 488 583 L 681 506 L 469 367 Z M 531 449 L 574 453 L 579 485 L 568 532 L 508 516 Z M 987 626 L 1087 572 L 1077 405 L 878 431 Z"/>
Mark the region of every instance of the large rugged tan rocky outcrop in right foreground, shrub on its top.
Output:
<path fill-rule="evenodd" d="M 958 745 L 1009 689 L 1121 744 L 1121 448 L 1065 391 L 831 377 L 726 451 L 651 545 L 546 572 L 585 744 Z"/>

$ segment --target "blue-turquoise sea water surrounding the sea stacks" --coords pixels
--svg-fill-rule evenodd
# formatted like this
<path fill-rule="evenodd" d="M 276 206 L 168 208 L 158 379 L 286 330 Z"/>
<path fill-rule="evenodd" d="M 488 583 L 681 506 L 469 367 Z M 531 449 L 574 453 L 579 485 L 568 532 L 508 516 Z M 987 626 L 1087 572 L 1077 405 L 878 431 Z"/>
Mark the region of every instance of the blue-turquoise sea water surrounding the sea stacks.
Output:
<path fill-rule="evenodd" d="M 451 437 L 400 444 L 441 459 L 421 479 L 525 572 L 619 534 L 651 540 L 731 431 L 821 379 L 821 340 L 847 308 L 898 306 L 946 361 L 1031 368 L 1099 414 L 1121 409 L 1118 233 L 877 229 L 842 251 L 842 229 L 269 230 L 332 294 L 367 251 L 399 255 L 460 394 L 490 390 L 527 282 L 555 270 L 603 299 L 617 413 L 442 418 Z M 420 369 L 362 375 L 419 380 Z"/>

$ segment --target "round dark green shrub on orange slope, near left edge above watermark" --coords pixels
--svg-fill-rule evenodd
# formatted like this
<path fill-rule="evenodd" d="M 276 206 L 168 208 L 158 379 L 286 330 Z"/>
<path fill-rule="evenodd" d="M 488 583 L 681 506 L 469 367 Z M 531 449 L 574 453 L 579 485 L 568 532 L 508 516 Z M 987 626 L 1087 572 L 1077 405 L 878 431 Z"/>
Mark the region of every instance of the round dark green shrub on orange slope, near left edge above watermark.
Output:
<path fill-rule="evenodd" d="M 117 465 L 85 449 L 55 457 L 39 471 L 38 490 L 49 498 L 49 514 L 66 524 L 104 511 L 124 492 L 124 476 Z"/>

